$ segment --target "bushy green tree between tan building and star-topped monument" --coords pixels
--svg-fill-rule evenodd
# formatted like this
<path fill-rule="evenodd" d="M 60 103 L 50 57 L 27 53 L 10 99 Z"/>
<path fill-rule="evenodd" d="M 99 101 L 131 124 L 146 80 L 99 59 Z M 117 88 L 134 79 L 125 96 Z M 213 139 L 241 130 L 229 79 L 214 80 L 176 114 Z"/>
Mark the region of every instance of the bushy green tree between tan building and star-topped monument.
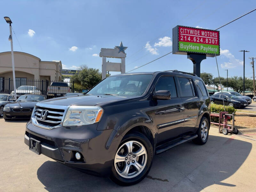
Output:
<path fill-rule="evenodd" d="M 91 89 L 95 84 L 101 81 L 99 69 L 88 68 L 86 65 L 80 67 L 79 73 L 71 77 L 71 81 L 81 84 L 86 89 Z"/>

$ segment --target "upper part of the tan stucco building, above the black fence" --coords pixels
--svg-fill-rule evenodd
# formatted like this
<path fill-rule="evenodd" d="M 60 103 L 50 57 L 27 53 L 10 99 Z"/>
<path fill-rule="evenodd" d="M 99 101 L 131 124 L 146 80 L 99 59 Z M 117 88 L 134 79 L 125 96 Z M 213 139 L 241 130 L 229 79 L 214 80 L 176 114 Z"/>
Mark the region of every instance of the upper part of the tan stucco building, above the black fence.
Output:
<path fill-rule="evenodd" d="M 61 61 L 42 61 L 40 58 L 25 53 L 14 52 L 15 77 L 27 80 L 61 81 Z M 11 52 L 0 53 L 0 77 L 12 77 Z"/>

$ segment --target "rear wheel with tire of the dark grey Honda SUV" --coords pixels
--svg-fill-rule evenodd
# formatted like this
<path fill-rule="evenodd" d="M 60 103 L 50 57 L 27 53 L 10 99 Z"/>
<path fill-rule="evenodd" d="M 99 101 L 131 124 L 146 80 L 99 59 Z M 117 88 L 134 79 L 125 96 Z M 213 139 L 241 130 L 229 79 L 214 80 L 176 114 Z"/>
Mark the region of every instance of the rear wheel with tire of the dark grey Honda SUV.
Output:
<path fill-rule="evenodd" d="M 198 145 L 204 145 L 209 136 L 209 120 L 206 117 L 202 117 L 198 130 L 197 130 L 197 138 L 193 140 L 194 143 Z"/>

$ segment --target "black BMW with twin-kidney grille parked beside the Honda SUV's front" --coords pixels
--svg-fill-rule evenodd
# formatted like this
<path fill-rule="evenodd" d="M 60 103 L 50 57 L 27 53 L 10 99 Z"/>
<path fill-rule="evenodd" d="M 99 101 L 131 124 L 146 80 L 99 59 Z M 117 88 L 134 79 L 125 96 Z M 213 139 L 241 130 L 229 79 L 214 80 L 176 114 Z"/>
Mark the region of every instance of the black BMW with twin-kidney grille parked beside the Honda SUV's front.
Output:
<path fill-rule="evenodd" d="M 29 119 L 38 101 L 46 100 L 44 95 L 28 94 L 22 95 L 16 102 L 4 106 L 4 120 Z"/>

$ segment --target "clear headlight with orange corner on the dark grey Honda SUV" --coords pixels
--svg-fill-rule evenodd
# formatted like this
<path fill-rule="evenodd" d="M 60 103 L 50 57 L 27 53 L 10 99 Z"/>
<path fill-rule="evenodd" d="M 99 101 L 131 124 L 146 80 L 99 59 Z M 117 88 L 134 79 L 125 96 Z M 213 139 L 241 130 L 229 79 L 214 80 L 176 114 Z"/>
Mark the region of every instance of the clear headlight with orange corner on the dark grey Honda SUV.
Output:
<path fill-rule="evenodd" d="M 100 121 L 102 114 L 99 106 L 70 106 L 63 126 L 94 124 Z"/>

